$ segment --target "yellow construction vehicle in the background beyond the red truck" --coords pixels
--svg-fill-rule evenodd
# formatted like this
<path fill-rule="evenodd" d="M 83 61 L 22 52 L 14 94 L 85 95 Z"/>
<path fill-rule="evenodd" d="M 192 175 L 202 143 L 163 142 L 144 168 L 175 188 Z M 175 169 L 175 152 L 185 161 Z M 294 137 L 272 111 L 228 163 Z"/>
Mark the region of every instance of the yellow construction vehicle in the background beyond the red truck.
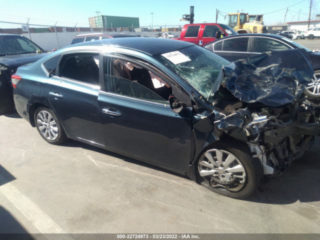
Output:
<path fill-rule="evenodd" d="M 248 13 L 228 13 L 229 26 L 238 33 L 264 33 L 263 15 L 249 15 Z"/>

